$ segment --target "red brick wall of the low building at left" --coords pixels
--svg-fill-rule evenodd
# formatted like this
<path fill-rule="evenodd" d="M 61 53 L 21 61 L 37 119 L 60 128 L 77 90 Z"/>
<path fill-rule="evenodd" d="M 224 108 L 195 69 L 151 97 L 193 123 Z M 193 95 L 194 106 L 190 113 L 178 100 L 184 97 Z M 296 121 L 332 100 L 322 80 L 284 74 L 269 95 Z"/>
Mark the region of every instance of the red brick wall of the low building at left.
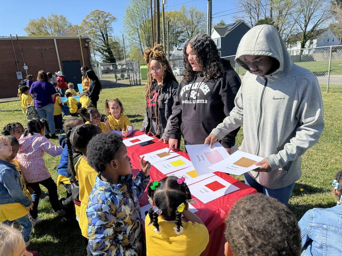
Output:
<path fill-rule="evenodd" d="M 19 71 L 23 74 L 25 79 L 26 71 L 24 70 L 24 62 L 21 56 L 19 45 L 25 59 L 25 64 L 28 66 L 28 74 L 32 74 L 34 81 L 36 81 L 39 70 L 46 72 L 59 71 L 55 43 L 53 39 L 13 39 L 15 55 L 18 61 Z M 63 70 L 62 61 L 79 60 L 83 66 L 82 55 L 80 49 L 79 39 L 61 38 L 56 39 L 58 54 L 60 56 L 60 63 Z M 90 66 L 90 47 L 86 39 L 81 38 L 84 65 Z M 88 46 L 85 46 L 88 44 Z M 0 98 L 16 97 L 18 93 L 18 85 L 21 80 L 17 79 L 16 73 L 18 71 L 15 63 L 13 53 L 13 46 L 11 40 L 0 40 Z M 80 81 L 81 82 L 81 81 Z"/>

